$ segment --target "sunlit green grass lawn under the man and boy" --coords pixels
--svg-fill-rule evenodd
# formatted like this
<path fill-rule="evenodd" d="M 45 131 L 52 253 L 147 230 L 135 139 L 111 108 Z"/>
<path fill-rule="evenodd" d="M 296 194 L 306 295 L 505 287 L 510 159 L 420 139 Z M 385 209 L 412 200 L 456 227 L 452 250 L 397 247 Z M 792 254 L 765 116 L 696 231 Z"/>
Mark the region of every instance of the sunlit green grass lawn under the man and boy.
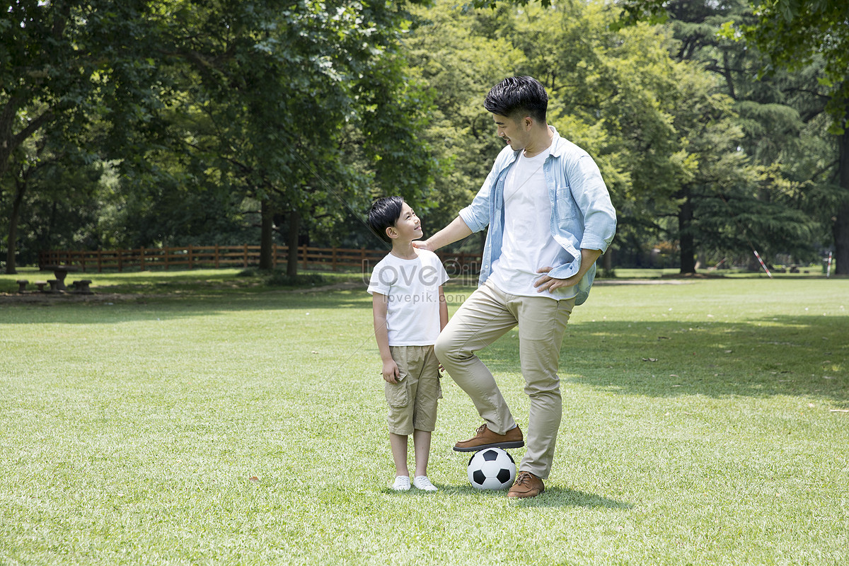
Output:
<path fill-rule="evenodd" d="M 440 490 L 389 490 L 358 286 L 87 278 L 101 300 L 0 297 L 0 563 L 849 560 L 847 279 L 599 282 L 561 350 L 546 491 L 513 502 L 469 486 L 451 448 L 480 419 L 450 378 Z M 481 357 L 525 428 L 517 346 Z"/>

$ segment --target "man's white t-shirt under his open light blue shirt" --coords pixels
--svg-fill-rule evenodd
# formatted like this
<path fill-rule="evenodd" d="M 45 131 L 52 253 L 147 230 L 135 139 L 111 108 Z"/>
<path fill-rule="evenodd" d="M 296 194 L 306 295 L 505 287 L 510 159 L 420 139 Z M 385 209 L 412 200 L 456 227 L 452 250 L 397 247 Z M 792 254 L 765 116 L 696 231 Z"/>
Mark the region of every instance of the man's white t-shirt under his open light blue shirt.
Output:
<path fill-rule="evenodd" d="M 551 235 L 551 203 L 543 163 L 551 152 L 525 157 L 522 152 L 504 182 L 504 235 L 501 255 L 492 262 L 492 281 L 505 293 L 524 297 L 571 299 L 575 287 L 537 292 L 533 286 L 544 273 L 571 259 Z"/>

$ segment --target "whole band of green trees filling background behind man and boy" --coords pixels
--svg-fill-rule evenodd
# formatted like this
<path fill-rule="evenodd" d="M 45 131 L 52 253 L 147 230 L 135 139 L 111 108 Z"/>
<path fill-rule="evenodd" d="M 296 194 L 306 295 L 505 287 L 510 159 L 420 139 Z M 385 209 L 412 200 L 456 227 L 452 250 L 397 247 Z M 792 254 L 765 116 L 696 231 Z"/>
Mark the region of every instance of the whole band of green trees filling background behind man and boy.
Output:
<path fill-rule="evenodd" d="M 844 12 L 16 0 L 0 14 L 6 269 L 56 246 L 376 247 L 362 216 L 389 193 L 435 231 L 502 147 L 482 100 L 510 75 L 543 81 L 549 122 L 599 163 L 620 217 L 605 266 L 834 245 L 846 269 Z"/>

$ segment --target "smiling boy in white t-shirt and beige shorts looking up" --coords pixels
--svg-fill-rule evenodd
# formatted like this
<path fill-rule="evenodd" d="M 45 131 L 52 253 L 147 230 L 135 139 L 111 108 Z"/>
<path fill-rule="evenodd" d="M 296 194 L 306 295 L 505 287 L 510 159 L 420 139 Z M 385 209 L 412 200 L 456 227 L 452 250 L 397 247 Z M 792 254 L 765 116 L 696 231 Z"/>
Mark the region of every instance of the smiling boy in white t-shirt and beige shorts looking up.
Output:
<path fill-rule="evenodd" d="M 401 197 L 375 200 L 368 210 L 368 226 L 392 244 L 392 251 L 374 266 L 368 283 L 389 404 L 389 443 L 396 470 L 392 489 L 410 489 L 407 438 L 413 434 L 413 485 L 434 491 L 427 478 L 427 462 L 442 389 L 433 345 L 448 322 L 442 293 L 448 275 L 436 254 L 413 247 L 413 240 L 422 237 L 421 223 Z"/>

